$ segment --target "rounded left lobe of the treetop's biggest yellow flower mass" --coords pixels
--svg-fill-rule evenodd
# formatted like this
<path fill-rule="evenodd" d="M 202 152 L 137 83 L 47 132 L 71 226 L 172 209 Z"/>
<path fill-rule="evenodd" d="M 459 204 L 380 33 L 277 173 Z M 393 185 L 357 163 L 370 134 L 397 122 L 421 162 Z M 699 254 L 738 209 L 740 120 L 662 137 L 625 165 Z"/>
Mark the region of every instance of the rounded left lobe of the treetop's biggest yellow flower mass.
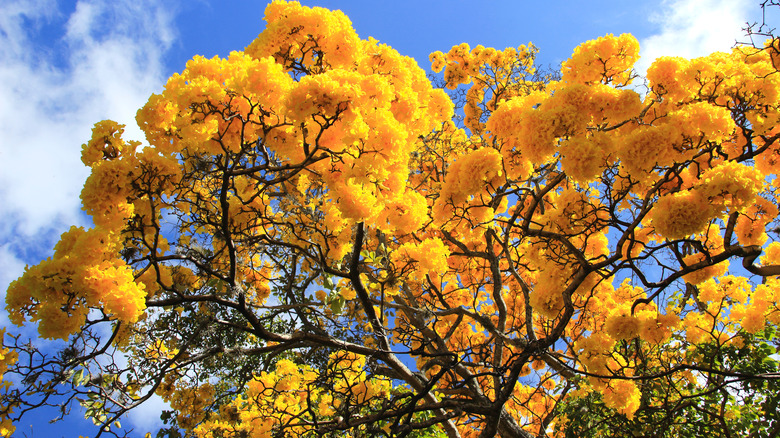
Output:
<path fill-rule="evenodd" d="M 187 149 L 216 155 L 224 152 L 224 146 L 237 152 L 241 141 L 257 140 L 263 122 L 278 121 L 292 85 L 293 79 L 271 58 L 256 59 L 241 52 L 232 52 L 227 59 L 196 56 L 183 73 L 168 79 L 162 95 L 149 99 L 136 120 L 150 144 L 163 154 Z M 240 114 L 250 123 L 226 120 L 207 111 L 209 105 L 224 108 L 226 116 Z M 233 141 L 216 141 L 219 133 L 232 134 L 227 138 Z"/>

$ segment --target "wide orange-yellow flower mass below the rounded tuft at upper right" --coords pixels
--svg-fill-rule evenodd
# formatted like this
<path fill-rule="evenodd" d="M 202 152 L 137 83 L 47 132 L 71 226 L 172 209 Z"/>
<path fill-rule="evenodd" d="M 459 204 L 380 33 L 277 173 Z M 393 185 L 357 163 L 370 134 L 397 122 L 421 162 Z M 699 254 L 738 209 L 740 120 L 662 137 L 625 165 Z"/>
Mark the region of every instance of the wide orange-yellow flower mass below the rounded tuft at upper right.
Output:
<path fill-rule="evenodd" d="M 505 162 L 517 163 L 508 166 L 509 178 L 526 178 L 532 170 L 529 163 L 546 163 L 557 153 L 565 171 L 578 182 L 587 182 L 619 155 L 619 138 L 597 128 L 636 117 L 642 108 L 639 95 L 603 84 L 566 82 L 551 84 L 549 91 L 552 93 L 532 92 L 501 102 L 488 119 L 486 129 L 500 142 Z M 634 149 L 649 155 L 658 147 L 652 143 L 649 149 Z M 629 162 L 647 163 L 648 158 L 656 158 L 633 157 L 636 153 L 632 155 L 630 151 L 623 155 L 630 157 Z"/>

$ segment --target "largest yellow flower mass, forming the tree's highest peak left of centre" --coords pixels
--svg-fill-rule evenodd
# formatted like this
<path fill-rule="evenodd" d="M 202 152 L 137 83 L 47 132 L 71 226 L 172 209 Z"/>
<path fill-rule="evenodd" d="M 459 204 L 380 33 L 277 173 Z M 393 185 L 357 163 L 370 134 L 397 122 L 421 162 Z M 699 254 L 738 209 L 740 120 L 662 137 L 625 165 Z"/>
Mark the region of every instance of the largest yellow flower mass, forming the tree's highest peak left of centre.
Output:
<path fill-rule="evenodd" d="M 421 134 L 451 117 L 446 93 L 414 60 L 358 38 L 340 11 L 277 1 L 266 20 L 244 52 L 194 58 L 149 100 L 138 122 L 150 143 L 192 157 L 248 152 L 260 141 L 290 166 L 316 155 L 308 186 L 321 187 L 334 233 L 357 222 L 419 228 L 427 202 L 410 194 L 408 162 Z M 244 210 L 239 203 L 233 211 Z"/>

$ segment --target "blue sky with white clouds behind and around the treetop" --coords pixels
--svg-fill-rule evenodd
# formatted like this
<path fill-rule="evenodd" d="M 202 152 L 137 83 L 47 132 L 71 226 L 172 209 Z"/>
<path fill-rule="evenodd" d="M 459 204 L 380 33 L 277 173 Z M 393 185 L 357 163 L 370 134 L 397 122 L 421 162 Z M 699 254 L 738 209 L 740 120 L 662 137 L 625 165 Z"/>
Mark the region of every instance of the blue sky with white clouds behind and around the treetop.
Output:
<path fill-rule="evenodd" d="M 199 54 L 227 56 L 262 31 L 266 1 L 1 0 L 0 292 L 25 264 L 49 257 L 71 225 L 89 226 L 79 192 L 87 177 L 81 145 L 92 125 L 113 119 L 143 140 L 135 112 L 168 76 Z M 702 56 L 745 41 L 761 22 L 759 0 L 321 0 L 372 36 L 430 70 L 428 55 L 462 42 L 504 48 L 529 41 L 539 63 L 557 66 L 574 47 L 607 33 L 634 34 L 644 71 L 661 55 Z M 780 14 L 773 13 L 773 16 Z M 780 26 L 778 17 L 769 24 Z M 0 311 L 0 325 L 7 317 Z M 137 436 L 159 427 L 159 401 L 123 421 Z M 96 432 L 75 413 L 31 416 L 17 436 Z M 91 427 L 91 428 L 90 428 Z M 154 435 L 154 433 L 153 433 Z"/>

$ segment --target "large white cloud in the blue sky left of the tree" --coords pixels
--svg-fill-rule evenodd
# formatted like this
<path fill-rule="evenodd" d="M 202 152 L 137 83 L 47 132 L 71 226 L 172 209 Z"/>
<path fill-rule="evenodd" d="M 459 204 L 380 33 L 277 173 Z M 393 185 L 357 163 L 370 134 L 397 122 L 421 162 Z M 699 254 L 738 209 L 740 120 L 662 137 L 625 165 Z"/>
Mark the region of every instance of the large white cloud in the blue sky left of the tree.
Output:
<path fill-rule="evenodd" d="M 46 0 L 0 8 L 0 241 L 84 221 L 80 148 L 92 124 L 111 118 L 134 128 L 135 111 L 163 83 L 173 38 L 155 4 L 79 1 L 67 17 Z M 36 44 L 58 20 L 65 30 L 51 47 Z M 137 128 L 127 133 L 142 139 Z"/>

